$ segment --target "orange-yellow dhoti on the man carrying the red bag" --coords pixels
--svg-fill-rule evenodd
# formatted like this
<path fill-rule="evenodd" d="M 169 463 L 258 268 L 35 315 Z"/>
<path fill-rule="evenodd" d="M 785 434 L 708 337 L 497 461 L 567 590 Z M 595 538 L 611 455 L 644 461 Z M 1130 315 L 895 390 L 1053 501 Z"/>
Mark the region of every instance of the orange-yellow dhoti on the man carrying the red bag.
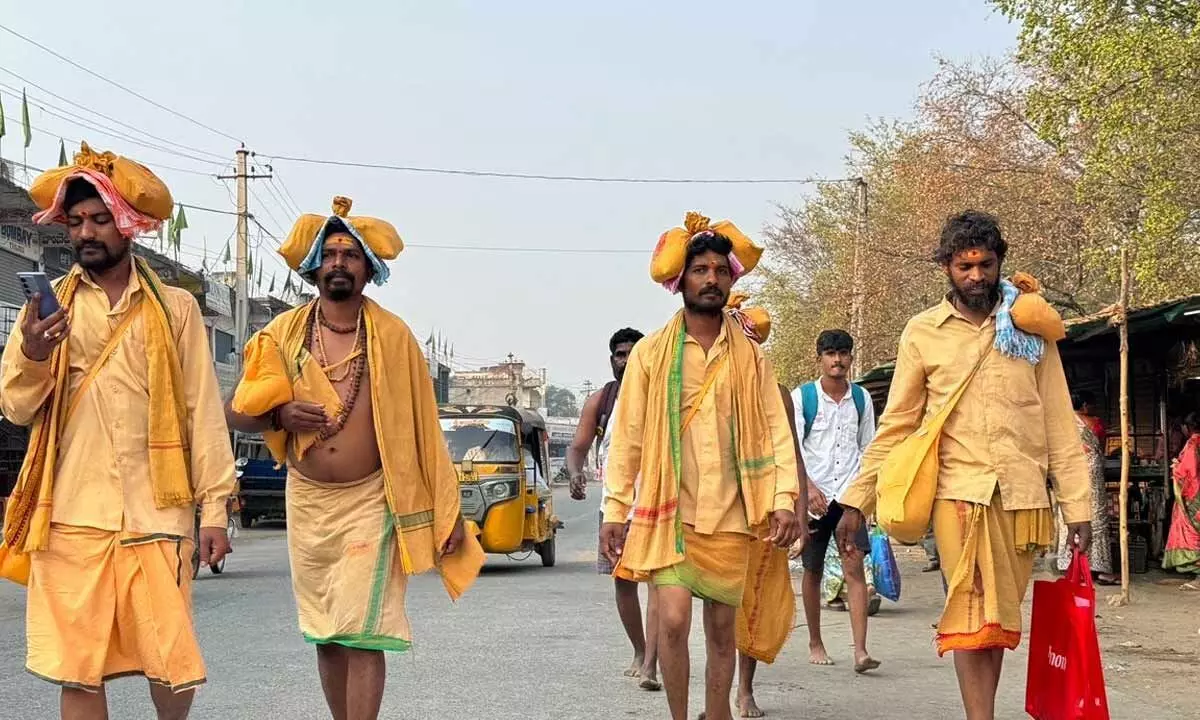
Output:
<path fill-rule="evenodd" d="M 1004 510 L 997 492 L 990 505 L 935 500 L 932 524 L 948 586 L 937 654 L 1016 648 L 1033 558 L 1050 545 L 1050 510 Z"/>

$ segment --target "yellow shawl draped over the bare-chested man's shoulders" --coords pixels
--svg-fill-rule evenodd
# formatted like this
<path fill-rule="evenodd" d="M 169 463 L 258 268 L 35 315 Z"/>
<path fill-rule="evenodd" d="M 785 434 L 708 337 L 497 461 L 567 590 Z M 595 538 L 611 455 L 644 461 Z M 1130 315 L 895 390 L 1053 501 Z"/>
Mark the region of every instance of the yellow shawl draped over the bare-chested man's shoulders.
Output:
<path fill-rule="evenodd" d="M 281 314 L 251 338 L 242 379 L 233 397 L 234 412 L 260 416 L 292 401 L 320 403 L 332 412 L 335 403 L 341 403 L 305 348 L 316 302 Z M 362 302 L 376 440 L 383 458 L 388 506 L 400 530 L 396 538 L 401 565 L 408 575 L 437 569 L 446 592 L 457 599 L 479 575 L 484 551 L 468 535 L 458 552 L 439 557 L 439 548 L 460 517 L 460 494 L 428 366 L 403 320 L 370 299 Z M 316 442 L 314 436 L 289 437 L 283 431 L 263 434 L 271 456 L 281 464 L 288 460 L 289 443 L 301 457 Z"/>

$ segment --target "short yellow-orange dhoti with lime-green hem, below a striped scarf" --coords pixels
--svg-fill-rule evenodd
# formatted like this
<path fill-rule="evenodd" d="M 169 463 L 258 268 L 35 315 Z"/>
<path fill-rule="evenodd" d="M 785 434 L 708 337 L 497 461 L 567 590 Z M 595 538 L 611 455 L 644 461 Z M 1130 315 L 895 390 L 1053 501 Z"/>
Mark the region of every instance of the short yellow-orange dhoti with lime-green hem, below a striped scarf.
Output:
<path fill-rule="evenodd" d="M 655 570 L 650 580 L 658 587 L 682 586 L 701 600 L 738 607 L 745 592 L 750 540 L 742 533 L 702 535 L 684 524 L 683 562 Z"/>

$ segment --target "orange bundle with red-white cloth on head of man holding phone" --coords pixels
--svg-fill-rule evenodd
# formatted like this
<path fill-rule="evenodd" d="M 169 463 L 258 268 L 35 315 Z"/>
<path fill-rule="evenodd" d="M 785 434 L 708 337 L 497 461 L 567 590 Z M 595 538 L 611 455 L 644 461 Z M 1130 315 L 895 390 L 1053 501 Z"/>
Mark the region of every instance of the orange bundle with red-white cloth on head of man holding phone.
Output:
<path fill-rule="evenodd" d="M 41 209 L 34 222 L 67 221 L 62 204 L 67 184 L 77 178 L 96 188 L 116 229 L 126 238 L 157 230 L 175 208 L 170 191 L 145 166 L 112 152 L 96 152 L 82 143 L 72 164 L 46 170 L 29 187 L 29 196 Z"/>

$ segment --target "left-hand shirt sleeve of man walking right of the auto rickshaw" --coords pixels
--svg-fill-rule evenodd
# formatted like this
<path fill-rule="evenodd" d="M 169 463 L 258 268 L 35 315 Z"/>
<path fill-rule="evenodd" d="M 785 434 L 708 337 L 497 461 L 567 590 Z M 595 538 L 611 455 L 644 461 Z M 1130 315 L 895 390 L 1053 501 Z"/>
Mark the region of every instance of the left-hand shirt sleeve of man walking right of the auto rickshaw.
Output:
<path fill-rule="evenodd" d="M 634 346 L 617 396 L 617 413 L 610 431 L 612 445 L 605 466 L 605 522 L 625 522 L 634 506 L 634 487 L 642 468 L 642 432 L 650 379 L 644 359 L 646 346 L 646 342 Z"/>

